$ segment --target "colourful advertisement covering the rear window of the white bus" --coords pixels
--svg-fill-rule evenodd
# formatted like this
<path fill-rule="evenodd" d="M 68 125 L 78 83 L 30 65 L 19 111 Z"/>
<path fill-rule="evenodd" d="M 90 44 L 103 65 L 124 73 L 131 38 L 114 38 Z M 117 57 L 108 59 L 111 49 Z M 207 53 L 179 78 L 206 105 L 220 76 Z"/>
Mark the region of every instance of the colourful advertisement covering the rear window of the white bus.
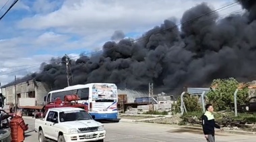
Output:
<path fill-rule="evenodd" d="M 117 100 L 117 86 L 115 84 L 94 84 L 92 86 L 92 100 Z"/>

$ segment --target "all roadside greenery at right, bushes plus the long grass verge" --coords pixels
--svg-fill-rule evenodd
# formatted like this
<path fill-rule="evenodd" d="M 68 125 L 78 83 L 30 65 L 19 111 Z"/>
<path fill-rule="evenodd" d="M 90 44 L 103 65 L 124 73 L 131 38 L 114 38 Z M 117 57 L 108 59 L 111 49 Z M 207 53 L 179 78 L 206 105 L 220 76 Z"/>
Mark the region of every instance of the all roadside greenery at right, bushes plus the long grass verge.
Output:
<path fill-rule="evenodd" d="M 247 131 L 256 131 L 253 123 L 256 123 L 256 114 L 253 113 L 238 113 L 238 116 L 234 116 L 234 92 L 238 88 L 236 94 L 237 106 L 247 104 L 249 100 L 249 84 L 239 83 L 234 78 L 228 79 L 216 79 L 213 80 L 210 91 L 205 94 L 205 104 L 211 103 L 214 105 L 214 117 L 218 123 L 230 129 L 244 129 Z M 186 93 L 184 95 L 184 104 L 187 109 L 187 113 L 181 115 L 181 98 L 177 99 L 177 102 L 172 104 L 172 112 L 167 111 L 148 111 L 143 113 L 145 117 L 131 116 L 131 119 L 149 119 L 150 115 L 160 115 L 157 119 L 143 120 L 147 123 L 161 123 L 161 124 L 173 124 L 173 125 L 197 125 L 201 127 L 201 116 L 203 115 L 203 106 L 201 103 L 201 96 L 191 95 Z M 172 117 L 164 117 L 172 113 Z M 148 116 L 146 116 L 148 115 Z M 123 116 L 127 117 L 127 116 Z M 246 124 L 245 124 L 246 123 Z M 245 126 L 246 125 L 246 126 Z M 250 125 L 250 126 L 249 126 Z"/>

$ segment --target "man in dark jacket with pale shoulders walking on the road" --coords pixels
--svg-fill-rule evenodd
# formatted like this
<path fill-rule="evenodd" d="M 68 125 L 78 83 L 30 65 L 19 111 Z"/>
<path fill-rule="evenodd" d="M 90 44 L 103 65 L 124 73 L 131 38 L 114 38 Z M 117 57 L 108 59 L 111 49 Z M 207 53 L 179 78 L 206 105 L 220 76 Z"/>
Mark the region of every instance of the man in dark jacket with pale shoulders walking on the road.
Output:
<path fill-rule="evenodd" d="M 221 129 L 214 120 L 214 107 L 212 104 L 205 105 L 205 113 L 202 116 L 203 134 L 207 142 L 215 142 L 215 131 L 214 128 Z M 222 130 L 222 129 L 221 129 Z M 223 130 L 222 130 L 223 131 Z"/>

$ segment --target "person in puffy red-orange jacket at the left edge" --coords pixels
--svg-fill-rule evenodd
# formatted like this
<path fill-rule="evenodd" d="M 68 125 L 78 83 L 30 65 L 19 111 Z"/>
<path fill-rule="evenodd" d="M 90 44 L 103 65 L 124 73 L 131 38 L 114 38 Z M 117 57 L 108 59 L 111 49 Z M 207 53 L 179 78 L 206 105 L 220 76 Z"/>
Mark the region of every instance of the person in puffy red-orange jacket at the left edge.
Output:
<path fill-rule="evenodd" d="M 11 142 L 23 142 L 25 139 L 25 131 L 28 130 L 28 125 L 22 119 L 22 110 L 17 110 L 9 126 L 11 127 Z"/>

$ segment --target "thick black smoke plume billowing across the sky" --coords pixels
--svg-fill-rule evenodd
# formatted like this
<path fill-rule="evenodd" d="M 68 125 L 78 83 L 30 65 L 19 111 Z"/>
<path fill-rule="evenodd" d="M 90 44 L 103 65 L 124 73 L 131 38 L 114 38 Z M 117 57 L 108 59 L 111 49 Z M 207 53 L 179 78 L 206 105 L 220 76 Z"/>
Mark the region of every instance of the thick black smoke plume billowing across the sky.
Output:
<path fill-rule="evenodd" d="M 243 15 L 232 14 L 218 21 L 217 13 L 205 15 L 183 24 L 181 29 L 166 19 L 162 25 L 144 33 L 147 37 L 143 40 L 106 42 L 102 54 L 81 55 L 71 61 L 71 84 L 112 82 L 119 88 L 147 89 L 148 83 L 154 82 L 156 91 L 175 92 L 184 86 L 207 87 L 215 78 L 254 80 L 256 6 L 252 1 L 241 3 L 248 10 Z M 212 10 L 201 3 L 185 11 L 181 22 Z M 168 27 L 173 28 L 164 30 Z M 162 32 L 151 35 L 157 31 Z M 36 80 L 55 89 L 67 86 L 65 64 L 42 64 L 41 69 Z"/>

